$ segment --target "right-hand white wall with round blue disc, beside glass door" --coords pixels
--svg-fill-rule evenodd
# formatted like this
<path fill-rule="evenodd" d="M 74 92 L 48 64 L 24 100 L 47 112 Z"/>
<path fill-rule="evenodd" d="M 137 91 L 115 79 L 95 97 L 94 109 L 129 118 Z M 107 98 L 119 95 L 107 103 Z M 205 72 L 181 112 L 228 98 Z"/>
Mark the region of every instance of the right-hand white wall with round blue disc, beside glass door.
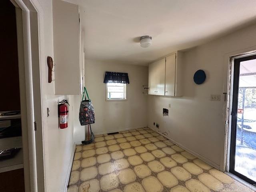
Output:
<path fill-rule="evenodd" d="M 149 127 L 156 129 L 153 122 L 158 122 L 160 132 L 222 168 L 226 108 L 222 93 L 226 92 L 228 55 L 253 49 L 255 34 L 253 25 L 186 51 L 183 97 L 149 95 Z M 206 82 L 202 85 L 193 82 L 194 72 L 199 69 L 206 72 Z M 221 101 L 210 101 L 210 94 L 220 94 Z M 163 108 L 169 109 L 169 116 L 162 115 Z"/>

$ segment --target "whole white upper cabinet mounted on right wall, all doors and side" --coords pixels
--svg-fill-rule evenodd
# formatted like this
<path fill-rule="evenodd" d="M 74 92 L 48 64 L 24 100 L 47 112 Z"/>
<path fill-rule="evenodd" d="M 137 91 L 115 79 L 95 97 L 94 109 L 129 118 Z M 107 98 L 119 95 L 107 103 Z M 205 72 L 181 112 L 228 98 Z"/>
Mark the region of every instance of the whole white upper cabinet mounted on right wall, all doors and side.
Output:
<path fill-rule="evenodd" d="M 182 52 L 149 65 L 148 94 L 182 96 Z"/>

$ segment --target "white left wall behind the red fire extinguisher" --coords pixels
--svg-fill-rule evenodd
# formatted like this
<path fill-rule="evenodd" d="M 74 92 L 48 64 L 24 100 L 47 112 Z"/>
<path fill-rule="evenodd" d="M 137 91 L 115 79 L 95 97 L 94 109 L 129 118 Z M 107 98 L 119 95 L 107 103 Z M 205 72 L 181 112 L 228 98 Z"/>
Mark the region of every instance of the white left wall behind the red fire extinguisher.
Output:
<path fill-rule="evenodd" d="M 68 176 L 68 167 L 74 149 L 74 128 L 73 128 L 73 107 L 74 96 L 54 95 L 54 82 L 48 83 L 47 56 L 52 56 L 53 52 L 53 29 L 52 29 L 52 0 L 38 0 L 43 10 L 43 38 L 41 46 L 44 48 L 45 62 L 41 63 L 41 78 L 43 91 L 43 120 L 44 120 L 44 164 L 46 191 L 63 191 Z M 54 78 L 54 72 L 53 72 Z M 58 128 L 58 102 L 68 99 L 70 102 L 68 128 Z M 46 108 L 50 110 L 47 117 Z"/>

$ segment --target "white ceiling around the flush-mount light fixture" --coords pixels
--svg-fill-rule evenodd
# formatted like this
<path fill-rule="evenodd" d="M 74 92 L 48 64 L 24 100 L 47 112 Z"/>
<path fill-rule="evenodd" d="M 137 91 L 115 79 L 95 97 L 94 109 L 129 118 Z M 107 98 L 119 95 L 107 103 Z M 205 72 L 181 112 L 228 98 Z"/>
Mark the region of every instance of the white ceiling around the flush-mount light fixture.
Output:
<path fill-rule="evenodd" d="M 86 58 L 120 63 L 147 65 L 256 21 L 256 0 L 66 1 L 80 5 Z"/>

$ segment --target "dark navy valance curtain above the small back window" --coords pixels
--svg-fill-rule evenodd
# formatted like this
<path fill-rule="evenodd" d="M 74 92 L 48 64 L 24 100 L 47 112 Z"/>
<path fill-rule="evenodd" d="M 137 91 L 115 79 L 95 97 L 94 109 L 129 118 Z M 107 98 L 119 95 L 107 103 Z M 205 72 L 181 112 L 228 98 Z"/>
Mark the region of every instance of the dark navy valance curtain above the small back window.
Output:
<path fill-rule="evenodd" d="M 106 71 L 104 83 L 123 83 L 129 84 L 128 73 L 108 72 Z"/>

